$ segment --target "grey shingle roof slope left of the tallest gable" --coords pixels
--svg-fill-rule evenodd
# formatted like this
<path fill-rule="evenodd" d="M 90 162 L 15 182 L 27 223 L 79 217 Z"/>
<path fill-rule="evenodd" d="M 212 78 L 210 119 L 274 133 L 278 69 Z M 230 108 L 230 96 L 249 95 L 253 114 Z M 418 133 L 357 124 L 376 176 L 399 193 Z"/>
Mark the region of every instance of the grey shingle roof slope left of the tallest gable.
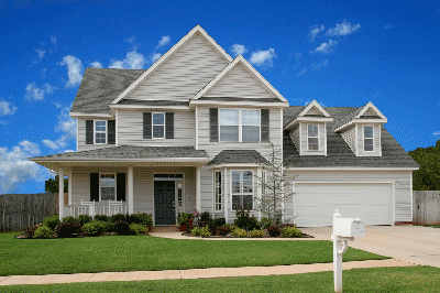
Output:
<path fill-rule="evenodd" d="M 110 102 L 143 72 L 87 67 L 70 112 L 111 115 Z"/>

